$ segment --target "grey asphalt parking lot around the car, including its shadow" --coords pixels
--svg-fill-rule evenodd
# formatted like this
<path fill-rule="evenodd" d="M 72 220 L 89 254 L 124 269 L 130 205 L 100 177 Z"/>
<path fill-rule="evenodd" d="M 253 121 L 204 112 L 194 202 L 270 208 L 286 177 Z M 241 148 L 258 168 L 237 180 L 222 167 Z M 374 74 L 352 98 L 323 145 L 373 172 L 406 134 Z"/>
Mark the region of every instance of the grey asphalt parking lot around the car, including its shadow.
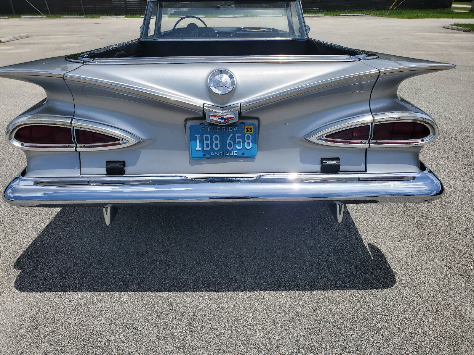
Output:
<path fill-rule="evenodd" d="M 307 18 L 310 35 L 454 63 L 400 94 L 438 123 L 429 204 L 18 208 L 0 201 L 0 354 L 473 354 L 474 34 Z M 473 19 L 463 22 L 474 22 Z M 138 36 L 140 18 L 6 19 L 0 66 Z M 0 131 L 44 97 L 0 79 Z M 2 190 L 25 166 L 0 140 Z"/>

